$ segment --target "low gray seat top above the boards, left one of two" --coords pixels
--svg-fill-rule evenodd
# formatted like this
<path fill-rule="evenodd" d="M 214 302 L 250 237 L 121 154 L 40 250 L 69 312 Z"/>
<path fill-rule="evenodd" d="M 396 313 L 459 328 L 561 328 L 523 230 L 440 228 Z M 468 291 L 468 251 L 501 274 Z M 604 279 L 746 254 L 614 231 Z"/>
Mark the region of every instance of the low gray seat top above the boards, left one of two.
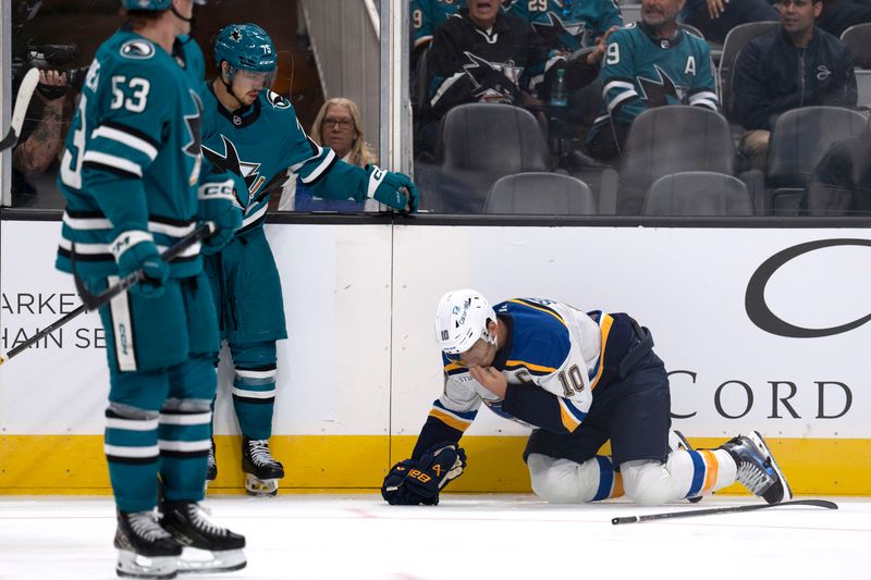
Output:
<path fill-rule="evenodd" d="M 582 181 L 561 173 L 518 173 L 493 184 L 484 213 L 527 215 L 596 214 L 596 199 Z"/>

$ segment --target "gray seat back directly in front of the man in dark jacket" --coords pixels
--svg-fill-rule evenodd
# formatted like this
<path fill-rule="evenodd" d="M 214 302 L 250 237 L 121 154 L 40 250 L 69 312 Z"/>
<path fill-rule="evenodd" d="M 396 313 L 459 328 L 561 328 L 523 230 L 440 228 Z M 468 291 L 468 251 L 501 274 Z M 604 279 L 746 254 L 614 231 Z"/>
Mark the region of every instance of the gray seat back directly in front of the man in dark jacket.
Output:
<path fill-rule="evenodd" d="M 802 107 L 777 118 L 765 170 L 766 209 L 780 215 L 799 211 L 808 178 L 833 143 L 864 132 L 861 113 L 838 107 Z"/>

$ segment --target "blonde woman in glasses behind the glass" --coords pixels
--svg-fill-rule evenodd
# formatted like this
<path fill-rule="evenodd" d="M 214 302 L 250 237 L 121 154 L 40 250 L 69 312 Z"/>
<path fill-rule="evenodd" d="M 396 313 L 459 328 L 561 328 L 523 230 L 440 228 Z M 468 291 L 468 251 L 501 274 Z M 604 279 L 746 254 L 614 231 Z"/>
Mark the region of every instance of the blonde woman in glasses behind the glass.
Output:
<path fill-rule="evenodd" d="M 335 151 L 336 157 L 346 163 L 365 168 L 376 163 L 377 159 L 366 136 L 363 133 L 360 110 L 351 99 L 336 97 L 329 99 L 318 111 L 315 123 L 309 132 L 311 140 L 320 146 L 329 147 Z M 378 211 L 379 203 L 375 199 L 367 199 L 365 203 L 353 199 L 323 199 L 311 195 L 296 174 L 287 172 L 285 183 L 279 201 L 281 211 L 341 211 L 355 213 L 359 211 Z"/>

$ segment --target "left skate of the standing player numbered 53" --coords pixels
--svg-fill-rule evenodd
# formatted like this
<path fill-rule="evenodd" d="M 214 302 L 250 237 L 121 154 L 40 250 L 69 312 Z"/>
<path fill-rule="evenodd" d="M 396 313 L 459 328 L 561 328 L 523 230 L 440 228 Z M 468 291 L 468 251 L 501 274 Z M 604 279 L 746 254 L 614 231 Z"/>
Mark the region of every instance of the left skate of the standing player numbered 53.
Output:
<path fill-rule="evenodd" d="M 118 566 L 122 578 L 175 578 L 180 544 L 160 527 L 151 511 L 119 511 L 115 531 Z"/>

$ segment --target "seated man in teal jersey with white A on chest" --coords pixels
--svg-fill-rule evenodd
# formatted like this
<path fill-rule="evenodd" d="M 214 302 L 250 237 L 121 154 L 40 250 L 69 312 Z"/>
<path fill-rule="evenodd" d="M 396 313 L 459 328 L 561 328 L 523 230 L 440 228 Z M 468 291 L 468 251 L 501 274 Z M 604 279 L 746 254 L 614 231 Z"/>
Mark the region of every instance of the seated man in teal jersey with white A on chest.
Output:
<path fill-rule="evenodd" d="M 708 42 L 677 27 L 682 8 L 684 0 L 641 0 L 641 21 L 609 37 L 601 73 L 604 102 L 587 135 L 597 159 L 616 162 L 633 121 L 647 109 L 720 107 Z"/>

